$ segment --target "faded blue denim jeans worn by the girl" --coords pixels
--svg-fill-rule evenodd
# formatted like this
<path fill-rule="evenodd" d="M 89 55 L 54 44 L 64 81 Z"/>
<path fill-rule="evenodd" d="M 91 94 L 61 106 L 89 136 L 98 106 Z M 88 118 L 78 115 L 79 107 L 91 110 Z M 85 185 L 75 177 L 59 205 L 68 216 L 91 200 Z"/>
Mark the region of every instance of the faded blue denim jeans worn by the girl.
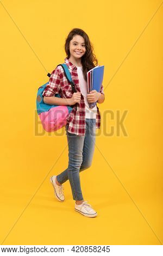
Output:
<path fill-rule="evenodd" d="M 69 180 L 74 200 L 83 200 L 82 189 L 80 185 L 79 172 L 91 166 L 96 140 L 96 119 L 85 119 L 85 136 L 76 135 L 67 131 L 68 142 L 68 168 L 57 175 L 60 184 Z"/>

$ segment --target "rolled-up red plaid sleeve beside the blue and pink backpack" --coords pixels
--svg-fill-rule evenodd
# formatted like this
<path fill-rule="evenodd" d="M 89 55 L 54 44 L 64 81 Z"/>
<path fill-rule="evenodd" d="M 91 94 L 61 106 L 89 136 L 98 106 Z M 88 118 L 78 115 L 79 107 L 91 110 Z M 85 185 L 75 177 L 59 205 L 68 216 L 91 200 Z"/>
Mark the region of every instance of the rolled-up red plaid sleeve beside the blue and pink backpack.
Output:
<path fill-rule="evenodd" d="M 52 71 L 51 77 L 49 78 L 49 83 L 47 84 L 42 96 L 50 97 L 59 93 L 60 89 L 60 75 L 59 70 L 56 68 Z"/>

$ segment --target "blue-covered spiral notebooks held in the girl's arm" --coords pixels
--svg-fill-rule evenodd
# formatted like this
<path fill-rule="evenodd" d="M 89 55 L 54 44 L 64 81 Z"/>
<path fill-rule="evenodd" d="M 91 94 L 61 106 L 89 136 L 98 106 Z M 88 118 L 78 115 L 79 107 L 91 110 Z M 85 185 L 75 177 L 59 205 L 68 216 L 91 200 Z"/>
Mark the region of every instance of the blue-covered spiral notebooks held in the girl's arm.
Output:
<path fill-rule="evenodd" d="M 91 90 L 100 92 L 104 76 L 104 65 L 96 66 L 87 72 L 87 93 L 90 94 Z M 89 103 L 89 108 L 96 106 L 96 102 Z"/>

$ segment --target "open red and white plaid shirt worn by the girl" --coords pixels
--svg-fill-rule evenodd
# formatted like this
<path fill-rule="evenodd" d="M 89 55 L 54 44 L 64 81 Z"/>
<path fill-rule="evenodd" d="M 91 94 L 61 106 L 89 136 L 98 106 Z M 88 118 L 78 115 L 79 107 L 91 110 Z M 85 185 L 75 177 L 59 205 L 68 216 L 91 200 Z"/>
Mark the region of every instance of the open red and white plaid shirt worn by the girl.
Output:
<path fill-rule="evenodd" d="M 76 84 L 75 88 L 77 92 L 80 92 L 79 80 L 77 67 L 73 65 L 68 58 L 65 58 L 65 63 L 68 66 L 70 71 L 72 80 Z M 101 87 L 100 93 L 103 92 L 103 85 Z M 71 84 L 67 81 L 64 70 L 61 66 L 57 66 L 52 71 L 51 77 L 49 78 L 49 83 L 47 84 L 45 90 L 42 93 L 42 96 L 54 96 L 55 94 L 59 94 L 62 98 L 70 99 L 73 95 L 73 90 Z M 68 105 L 68 104 L 67 104 Z M 97 106 L 97 105 L 96 105 Z M 84 96 L 81 93 L 81 100 L 77 103 L 77 109 L 73 107 L 72 111 L 67 117 L 68 124 L 68 132 L 74 133 L 76 135 L 85 135 L 85 102 Z M 99 109 L 97 107 L 96 114 L 96 129 L 99 129 L 101 125 L 101 115 L 99 113 Z"/>

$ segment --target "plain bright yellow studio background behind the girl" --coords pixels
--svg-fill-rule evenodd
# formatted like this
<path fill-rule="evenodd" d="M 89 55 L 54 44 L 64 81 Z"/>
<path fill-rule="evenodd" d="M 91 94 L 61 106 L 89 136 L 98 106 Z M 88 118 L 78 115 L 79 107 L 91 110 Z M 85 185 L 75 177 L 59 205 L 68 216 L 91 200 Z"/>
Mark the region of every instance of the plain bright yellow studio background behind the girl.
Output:
<path fill-rule="evenodd" d="M 2 245 L 162 243 L 161 2 L 1 1 Z M 36 134 L 37 89 L 64 62 L 72 28 L 89 35 L 105 65 L 101 132 L 92 166 L 80 175 L 96 218 L 74 211 L 69 181 L 65 202 L 54 197 L 49 177 L 68 164 L 64 128 Z M 118 136 L 116 112 L 126 110 L 127 136 Z M 104 124 L 114 135 L 104 135 Z"/>

